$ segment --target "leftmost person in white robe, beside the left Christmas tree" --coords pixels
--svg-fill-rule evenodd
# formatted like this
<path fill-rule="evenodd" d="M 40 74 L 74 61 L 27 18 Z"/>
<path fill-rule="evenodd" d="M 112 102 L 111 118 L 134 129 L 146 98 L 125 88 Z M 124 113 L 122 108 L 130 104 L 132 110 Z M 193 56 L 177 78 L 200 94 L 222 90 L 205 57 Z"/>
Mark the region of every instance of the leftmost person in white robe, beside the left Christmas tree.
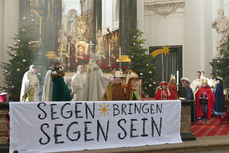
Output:
<path fill-rule="evenodd" d="M 20 101 L 37 102 L 39 101 L 39 80 L 36 75 L 37 69 L 34 65 L 29 67 L 22 79 Z"/>

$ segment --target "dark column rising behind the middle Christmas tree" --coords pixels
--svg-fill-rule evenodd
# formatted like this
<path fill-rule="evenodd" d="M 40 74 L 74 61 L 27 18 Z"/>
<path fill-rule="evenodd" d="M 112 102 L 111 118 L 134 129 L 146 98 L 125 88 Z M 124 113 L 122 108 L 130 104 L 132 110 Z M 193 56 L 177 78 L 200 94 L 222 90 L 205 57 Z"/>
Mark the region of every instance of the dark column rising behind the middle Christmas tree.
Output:
<path fill-rule="evenodd" d="M 129 47 L 129 35 L 135 28 L 137 20 L 137 1 L 136 0 L 120 0 L 119 13 L 119 32 L 120 47 L 123 55 L 127 54 Z"/>

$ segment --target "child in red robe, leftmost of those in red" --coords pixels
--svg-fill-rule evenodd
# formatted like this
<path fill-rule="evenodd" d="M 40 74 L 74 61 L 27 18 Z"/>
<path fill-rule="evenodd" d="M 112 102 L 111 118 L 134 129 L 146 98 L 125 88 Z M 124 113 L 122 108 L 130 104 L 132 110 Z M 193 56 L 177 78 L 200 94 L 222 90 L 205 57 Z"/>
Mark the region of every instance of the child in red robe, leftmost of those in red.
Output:
<path fill-rule="evenodd" d="M 168 83 L 165 81 L 162 81 L 159 84 L 159 87 L 156 91 L 156 100 L 168 100 L 171 98 L 170 91 L 168 89 Z"/>

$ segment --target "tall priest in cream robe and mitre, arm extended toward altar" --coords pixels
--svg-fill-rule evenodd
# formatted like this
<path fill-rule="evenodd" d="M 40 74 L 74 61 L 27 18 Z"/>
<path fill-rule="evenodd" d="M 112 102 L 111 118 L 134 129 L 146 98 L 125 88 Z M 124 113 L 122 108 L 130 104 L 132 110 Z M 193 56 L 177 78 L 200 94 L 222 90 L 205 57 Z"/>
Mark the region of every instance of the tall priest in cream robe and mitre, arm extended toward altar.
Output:
<path fill-rule="evenodd" d="M 98 66 L 100 64 L 100 55 L 91 52 L 91 64 L 88 67 L 86 85 L 84 90 L 85 101 L 103 100 L 109 81 L 112 77 L 106 76 Z"/>

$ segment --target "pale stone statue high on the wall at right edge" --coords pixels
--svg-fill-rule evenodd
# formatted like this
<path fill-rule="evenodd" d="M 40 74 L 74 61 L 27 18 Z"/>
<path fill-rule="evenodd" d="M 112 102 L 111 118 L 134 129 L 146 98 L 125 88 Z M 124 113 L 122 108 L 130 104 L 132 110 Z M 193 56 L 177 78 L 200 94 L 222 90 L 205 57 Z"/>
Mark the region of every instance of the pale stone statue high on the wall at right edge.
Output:
<path fill-rule="evenodd" d="M 212 28 L 216 29 L 218 36 L 217 51 L 222 55 L 226 50 L 229 34 L 229 19 L 224 16 L 224 10 L 217 11 L 218 17 L 212 22 Z"/>

